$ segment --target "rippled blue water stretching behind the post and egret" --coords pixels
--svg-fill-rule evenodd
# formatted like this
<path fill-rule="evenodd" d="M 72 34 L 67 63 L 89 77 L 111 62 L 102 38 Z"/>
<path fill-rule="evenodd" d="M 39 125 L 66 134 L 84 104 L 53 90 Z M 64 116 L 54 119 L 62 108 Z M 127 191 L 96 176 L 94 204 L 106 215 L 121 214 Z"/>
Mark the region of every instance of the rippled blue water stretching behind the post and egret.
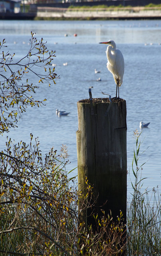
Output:
<path fill-rule="evenodd" d="M 142 171 L 142 177 L 147 177 L 143 188 L 161 185 L 161 20 L 1 21 L 0 41 L 6 38 L 8 50 L 21 58 L 29 48 L 31 31 L 47 40 L 50 50 L 56 50 L 53 63 L 57 65 L 60 79 L 52 88 L 44 84 L 38 90 L 37 98 L 47 98 L 46 106 L 28 108 L 18 129 L 11 130 L 8 136 L 29 142 L 32 132 L 34 137 L 39 137 L 43 155 L 53 146 L 59 151 L 61 145 L 66 144 L 71 162 L 68 170 L 75 168 L 77 101 L 89 98 L 89 86 L 93 86 L 93 98 L 102 97 L 101 91 L 115 96 L 115 82 L 106 68 L 106 46 L 98 44 L 112 39 L 125 60 L 120 96 L 127 102 L 127 169 L 132 179 L 133 131 L 139 130 L 140 121 L 150 122 L 141 134 L 141 151 L 147 149 L 140 157 L 140 165 L 146 162 Z M 74 37 L 74 33 L 78 36 Z M 68 65 L 63 66 L 64 62 Z M 95 74 L 95 68 L 101 73 Z M 96 81 L 99 77 L 101 82 Z M 69 116 L 59 118 L 56 108 L 70 112 Z M 5 141 L 4 134 L 0 138 L 0 150 Z M 76 174 L 77 169 L 70 175 Z M 127 184 L 130 196 L 129 174 Z"/>

